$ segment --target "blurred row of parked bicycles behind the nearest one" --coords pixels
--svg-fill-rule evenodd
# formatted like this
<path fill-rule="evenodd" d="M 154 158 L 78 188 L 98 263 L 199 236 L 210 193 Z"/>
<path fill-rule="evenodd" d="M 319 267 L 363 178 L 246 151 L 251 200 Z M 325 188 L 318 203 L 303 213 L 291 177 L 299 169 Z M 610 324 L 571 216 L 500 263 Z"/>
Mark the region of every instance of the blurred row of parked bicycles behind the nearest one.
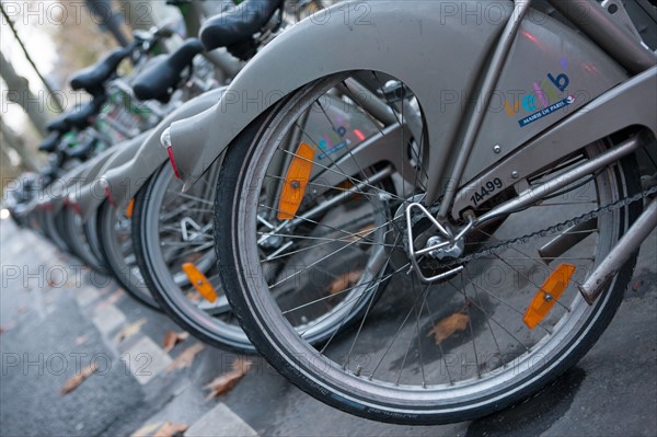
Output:
<path fill-rule="evenodd" d="M 216 275 L 208 205 L 217 172 L 181 193 L 160 136 L 172 119 L 215 104 L 220 83 L 240 66 L 235 58 L 247 60 L 289 25 L 281 13 L 274 16 L 281 5 L 257 2 L 215 16 L 205 22 L 205 45 L 187 38 L 163 55 L 155 55 L 163 43 L 176 43 L 170 26 L 136 32 L 128 46 L 74 73 L 71 88 L 91 100 L 48 123 L 50 134 L 38 149 L 49 164 L 24 174 L 9 193 L 8 207 L 21 226 L 113 275 L 132 297 L 166 311 L 194 335 L 242 352 L 253 346 Z M 229 51 L 204 56 L 219 47 Z M 119 77 L 124 61 L 132 72 Z"/>

